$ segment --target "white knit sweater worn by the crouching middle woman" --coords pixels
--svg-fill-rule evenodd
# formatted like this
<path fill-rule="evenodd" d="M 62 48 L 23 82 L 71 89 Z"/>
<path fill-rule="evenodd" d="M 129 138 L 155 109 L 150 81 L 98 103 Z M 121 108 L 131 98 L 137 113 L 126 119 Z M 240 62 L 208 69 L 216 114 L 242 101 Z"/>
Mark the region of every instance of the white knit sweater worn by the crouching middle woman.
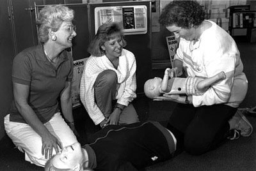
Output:
<path fill-rule="evenodd" d="M 132 52 L 125 49 L 122 50 L 117 69 L 113 67 L 113 64 L 106 56 L 90 56 L 84 65 L 80 84 L 80 98 L 95 124 L 99 124 L 105 119 L 95 103 L 93 89 L 97 76 L 104 70 L 116 72 L 118 78 L 117 103 L 127 106 L 136 98 L 136 59 Z"/>

